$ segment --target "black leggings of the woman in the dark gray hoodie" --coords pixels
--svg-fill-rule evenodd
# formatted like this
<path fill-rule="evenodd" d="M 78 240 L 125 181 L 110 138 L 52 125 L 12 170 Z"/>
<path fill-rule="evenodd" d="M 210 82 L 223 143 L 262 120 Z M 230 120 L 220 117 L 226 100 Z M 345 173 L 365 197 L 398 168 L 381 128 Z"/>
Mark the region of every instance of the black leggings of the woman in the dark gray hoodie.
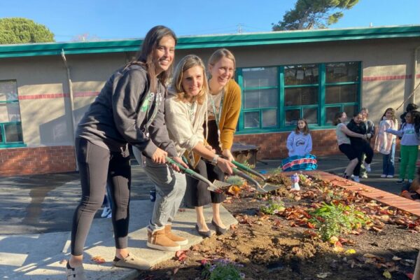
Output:
<path fill-rule="evenodd" d="M 82 255 L 90 225 L 102 206 L 108 181 L 111 189 L 112 224 L 116 248 L 127 248 L 130 219 L 130 156 L 111 152 L 86 139 L 76 139 L 76 156 L 82 200 L 73 215 L 71 254 Z"/>

